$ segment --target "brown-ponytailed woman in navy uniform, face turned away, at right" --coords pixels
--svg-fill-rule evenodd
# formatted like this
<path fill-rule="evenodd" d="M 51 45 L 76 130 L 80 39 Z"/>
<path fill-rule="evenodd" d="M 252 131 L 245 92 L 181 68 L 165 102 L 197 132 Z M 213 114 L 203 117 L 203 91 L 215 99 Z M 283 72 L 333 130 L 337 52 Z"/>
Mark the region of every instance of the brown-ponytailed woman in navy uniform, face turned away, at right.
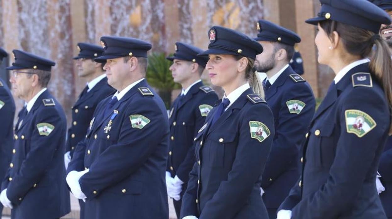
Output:
<path fill-rule="evenodd" d="M 318 25 L 318 62 L 336 77 L 311 121 L 301 177 L 278 218 L 386 218 L 375 182 L 391 130 L 392 60 L 378 33 L 391 20 L 367 0 L 320 2 L 307 23 Z"/>

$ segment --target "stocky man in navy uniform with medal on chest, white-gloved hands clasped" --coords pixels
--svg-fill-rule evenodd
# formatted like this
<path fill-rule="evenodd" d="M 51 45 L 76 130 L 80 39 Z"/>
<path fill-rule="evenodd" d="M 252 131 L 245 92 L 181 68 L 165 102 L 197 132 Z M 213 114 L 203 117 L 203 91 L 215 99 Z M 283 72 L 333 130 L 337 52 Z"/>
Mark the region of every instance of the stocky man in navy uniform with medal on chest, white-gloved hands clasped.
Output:
<path fill-rule="evenodd" d="M 67 183 L 85 200 L 86 219 L 168 219 L 169 119 L 144 78 L 151 44 L 115 36 L 101 41 L 105 51 L 95 61 L 106 62 L 107 81 L 117 92 L 98 104 Z"/>

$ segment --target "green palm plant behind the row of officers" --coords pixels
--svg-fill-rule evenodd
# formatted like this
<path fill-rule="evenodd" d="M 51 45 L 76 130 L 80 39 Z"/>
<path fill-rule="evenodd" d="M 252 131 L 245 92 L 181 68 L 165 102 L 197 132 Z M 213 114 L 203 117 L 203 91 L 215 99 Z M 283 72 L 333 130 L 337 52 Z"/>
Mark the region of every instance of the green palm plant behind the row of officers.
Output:
<path fill-rule="evenodd" d="M 148 56 L 148 67 L 146 78 L 149 85 L 158 90 L 159 96 L 166 105 L 166 109 L 171 106 L 171 93 L 181 86 L 175 83 L 169 70 L 171 61 L 166 59 L 165 53 L 152 53 Z"/>

